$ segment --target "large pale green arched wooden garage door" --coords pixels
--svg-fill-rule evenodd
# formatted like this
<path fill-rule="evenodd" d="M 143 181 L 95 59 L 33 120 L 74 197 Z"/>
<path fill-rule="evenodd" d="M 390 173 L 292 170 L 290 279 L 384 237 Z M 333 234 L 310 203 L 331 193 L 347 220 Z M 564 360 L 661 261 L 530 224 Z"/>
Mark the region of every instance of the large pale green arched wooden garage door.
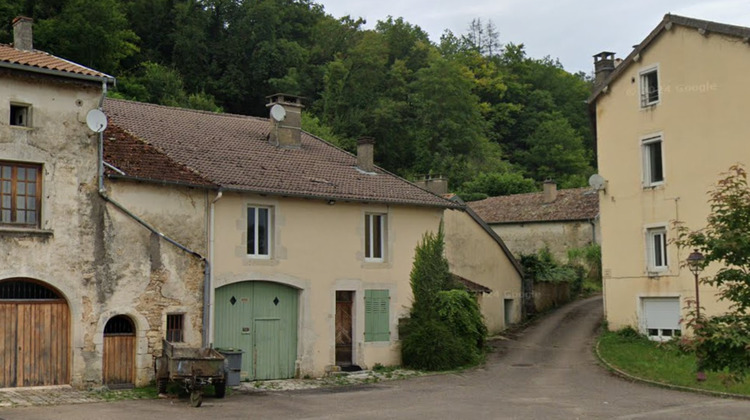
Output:
<path fill-rule="evenodd" d="M 214 346 L 243 350 L 243 379 L 294 376 L 299 291 L 246 281 L 216 289 Z"/>

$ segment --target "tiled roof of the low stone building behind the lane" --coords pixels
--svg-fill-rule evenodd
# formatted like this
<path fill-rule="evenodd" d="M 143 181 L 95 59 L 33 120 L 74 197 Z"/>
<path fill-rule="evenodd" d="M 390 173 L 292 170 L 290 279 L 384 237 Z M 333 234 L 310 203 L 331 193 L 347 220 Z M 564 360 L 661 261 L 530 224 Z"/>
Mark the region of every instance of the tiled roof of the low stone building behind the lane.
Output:
<path fill-rule="evenodd" d="M 599 194 L 591 188 L 558 190 L 544 202 L 544 193 L 490 197 L 468 203 L 487 223 L 557 222 L 589 220 L 599 214 Z"/>

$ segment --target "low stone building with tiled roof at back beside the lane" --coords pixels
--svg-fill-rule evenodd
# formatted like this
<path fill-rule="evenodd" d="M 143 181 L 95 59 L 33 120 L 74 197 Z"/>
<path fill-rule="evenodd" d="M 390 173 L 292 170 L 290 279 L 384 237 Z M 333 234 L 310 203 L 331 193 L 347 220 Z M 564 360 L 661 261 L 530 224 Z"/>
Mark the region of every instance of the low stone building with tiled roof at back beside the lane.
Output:
<path fill-rule="evenodd" d="M 543 192 L 490 197 L 468 206 L 516 257 L 547 247 L 564 262 L 569 249 L 600 243 L 599 196 L 591 188 L 558 190 L 548 181 Z"/>

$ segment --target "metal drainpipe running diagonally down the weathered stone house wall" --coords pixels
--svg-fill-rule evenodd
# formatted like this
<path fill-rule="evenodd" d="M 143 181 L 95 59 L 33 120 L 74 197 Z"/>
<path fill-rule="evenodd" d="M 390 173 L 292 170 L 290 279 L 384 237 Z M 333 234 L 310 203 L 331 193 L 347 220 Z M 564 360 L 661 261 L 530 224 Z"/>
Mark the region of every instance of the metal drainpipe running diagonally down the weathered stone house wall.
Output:
<path fill-rule="evenodd" d="M 99 100 L 100 110 L 102 110 L 102 108 L 104 107 L 104 98 L 106 96 L 107 96 L 107 81 L 104 80 L 102 82 L 102 97 Z M 211 278 L 211 264 L 203 255 L 199 254 L 196 251 L 193 251 L 192 249 L 186 247 L 185 245 L 182 245 L 181 243 L 170 238 L 169 236 L 164 235 L 163 233 L 158 231 L 156 228 L 148 224 L 145 220 L 133 214 L 130 210 L 125 208 L 125 206 L 123 206 L 122 204 L 110 198 L 107 195 L 107 190 L 104 188 L 104 132 L 103 131 L 99 133 L 99 151 L 98 152 L 99 152 L 98 153 L 99 154 L 99 159 L 98 159 L 99 160 L 98 162 L 99 196 L 101 196 L 104 199 L 104 201 L 117 207 L 118 210 L 120 210 L 121 212 L 129 216 L 131 219 L 138 222 L 141 226 L 151 231 L 151 233 L 158 235 L 160 238 L 164 239 L 165 241 L 169 242 L 170 244 L 174 245 L 180 250 L 187 252 L 188 254 L 198 258 L 199 260 L 203 262 L 203 322 L 204 324 L 203 324 L 203 334 L 201 335 L 201 347 L 207 347 L 208 346 L 208 328 L 205 322 L 208 317 L 207 312 L 208 312 L 210 296 L 206 294 L 206 289 L 208 288 L 210 290 L 209 280 Z"/>

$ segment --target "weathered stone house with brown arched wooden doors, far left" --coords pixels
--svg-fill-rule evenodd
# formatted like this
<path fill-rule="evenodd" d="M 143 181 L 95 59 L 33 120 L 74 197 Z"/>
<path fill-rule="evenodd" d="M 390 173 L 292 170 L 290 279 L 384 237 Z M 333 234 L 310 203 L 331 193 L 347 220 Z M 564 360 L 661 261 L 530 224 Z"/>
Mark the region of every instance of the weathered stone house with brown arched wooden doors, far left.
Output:
<path fill-rule="evenodd" d="M 114 78 L 33 49 L 31 25 L 0 45 L 0 387 L 144 384 L 170 314 L 201 343 L 203 264 L 108 202 L 87 115 Z M 200 251 L 199 230 L 176 235 Z"/>

